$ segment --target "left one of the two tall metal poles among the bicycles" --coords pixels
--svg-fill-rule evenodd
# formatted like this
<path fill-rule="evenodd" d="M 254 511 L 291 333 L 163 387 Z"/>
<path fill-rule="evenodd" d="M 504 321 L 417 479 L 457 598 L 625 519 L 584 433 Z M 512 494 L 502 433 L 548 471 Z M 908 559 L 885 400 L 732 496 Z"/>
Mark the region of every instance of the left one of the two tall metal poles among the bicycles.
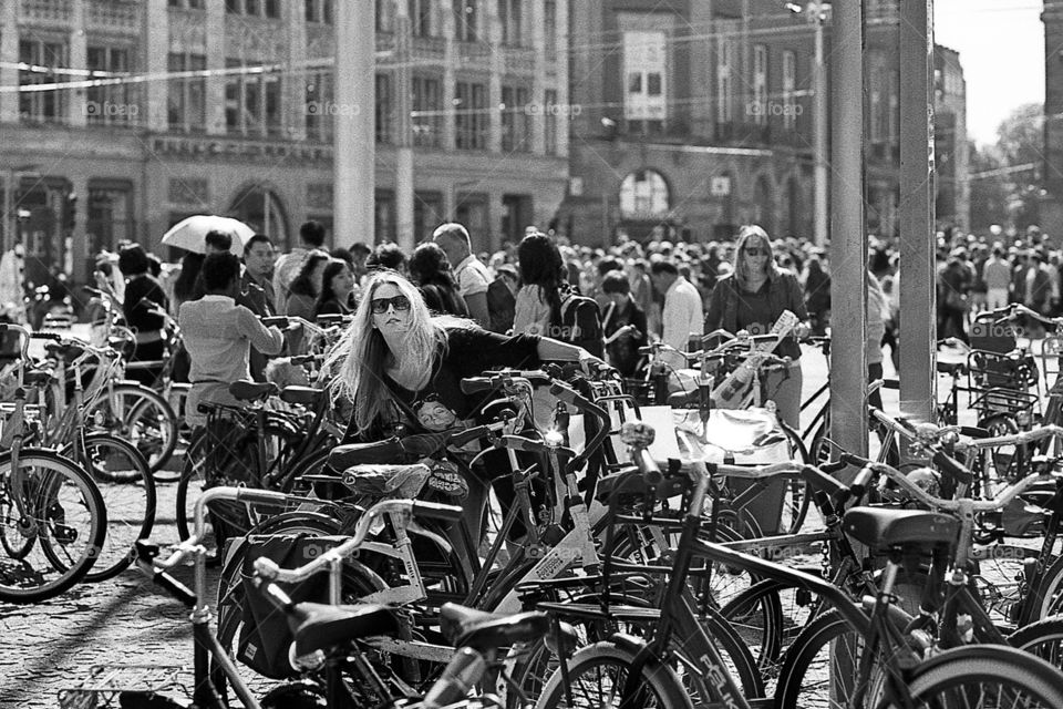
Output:
<path fill-rule="evenodd" d="M 833 6 L 830 70 L 830 438 L 867 454 L 867 237 L 864 233 L 864 17 Z M 843 357 L 844 353 L 844 357 Z"/>

